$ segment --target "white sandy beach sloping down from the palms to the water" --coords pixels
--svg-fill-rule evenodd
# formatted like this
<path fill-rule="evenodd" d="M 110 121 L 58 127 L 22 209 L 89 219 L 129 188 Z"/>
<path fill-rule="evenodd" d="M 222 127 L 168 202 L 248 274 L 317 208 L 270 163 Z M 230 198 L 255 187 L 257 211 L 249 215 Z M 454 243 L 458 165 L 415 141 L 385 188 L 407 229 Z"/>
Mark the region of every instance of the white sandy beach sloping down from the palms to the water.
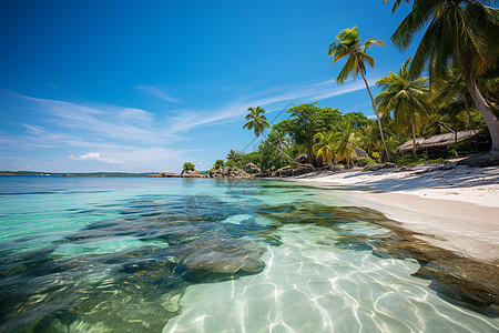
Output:
<path fill-rule="evenodd" d="M 317 172 L 293 180 L 347 190 L 352 200 L 424 234 L 421 240 L 498 264 L 499 168 L 434 169 Z"/>

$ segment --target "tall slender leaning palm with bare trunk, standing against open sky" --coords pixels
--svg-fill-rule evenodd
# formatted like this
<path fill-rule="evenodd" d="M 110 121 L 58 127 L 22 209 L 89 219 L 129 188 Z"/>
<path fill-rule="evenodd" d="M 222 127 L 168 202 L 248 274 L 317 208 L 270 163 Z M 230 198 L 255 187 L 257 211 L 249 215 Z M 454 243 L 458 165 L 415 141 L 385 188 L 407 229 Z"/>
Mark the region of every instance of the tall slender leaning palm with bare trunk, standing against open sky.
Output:
<path fill-rule="evenodd" d="M 360 73 L 360 77 L 366 84 L 367 92 L 369 93 L 370 101 L 373 104 L 373 109 L 378 119 L 379 133 L 381 135 L 383 145 L 385 148 L 386 158 L 390 160 L 390 152 L 388 147 L 386 145 L 385 134 L 383 133 L 381 120 L 379 119 L 378 110 L 376 109 L 376 104 L 373 98 L 373 93 L 370 92 L 369 84 L 366 80 L 366 62 L 374 68 L 375 59 L 367 54 L 367 49 L 373 46 L 384 47 L 385 43 L 380 40 L 367 39 L 364 43 L 360 44 L 360 39 L 358 37 L 358 28 L 354 27 L 352 29 L 342 30 L 338 36 L 336 36 L 338 41 L 332 43 L 329 49 L 327 50 L 327 56 L 333 57 L 333 61 L 330 65 L 335 64 L 338 60 L 348 57 L 345 67 L 336 78 L 338 83 L 343 83 L 349 75 L 354 79 Z"/>

